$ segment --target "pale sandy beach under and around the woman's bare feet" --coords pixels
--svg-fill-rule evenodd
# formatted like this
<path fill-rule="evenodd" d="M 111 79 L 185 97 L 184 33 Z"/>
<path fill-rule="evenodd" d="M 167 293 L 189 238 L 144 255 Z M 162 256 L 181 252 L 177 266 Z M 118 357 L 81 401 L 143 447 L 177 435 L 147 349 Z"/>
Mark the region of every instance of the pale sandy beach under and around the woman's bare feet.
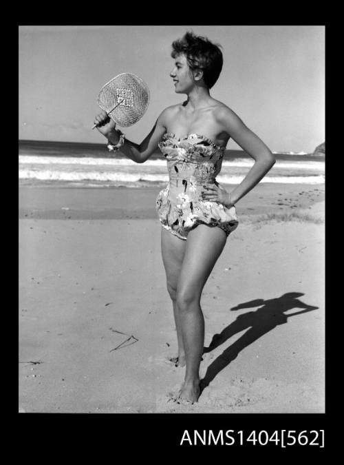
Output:
<path fill-rule="evenodd" d="M 171 400 L 159 190 L 19 187 L 19 411 L 323 413 L 324 186 L 262 183 L 238 203 L 189 406 Z"/>

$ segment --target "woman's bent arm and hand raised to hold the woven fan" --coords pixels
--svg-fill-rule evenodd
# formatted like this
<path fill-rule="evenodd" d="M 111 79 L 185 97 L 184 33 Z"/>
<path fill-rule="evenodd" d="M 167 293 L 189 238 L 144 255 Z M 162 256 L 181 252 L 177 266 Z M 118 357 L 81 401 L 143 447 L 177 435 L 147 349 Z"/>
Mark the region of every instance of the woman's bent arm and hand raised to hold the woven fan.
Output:
<path fill-rule="evenodd" d="M 167 109 L 166 109 L 167 110 Z M 136 163 L 144 163 L 158 147 L 162 136 L 166 132 L 166 110 L 164 110 L 151 132 L 144 140 L 139 144 L 129 141 L 125 138 L 125 143 L 120 147 L 120 152 L 125 154 L 128 158 L 135 161 Z M 109 141 L 109 143 L 116 145 L 119 141 L 119 134 L 116 131 L 116 123 L 109 118 L 108 114 L 105 111 L 100 112 L 94 118 L 94 124 L 97 124 L 97 129 L 100 134 L 103 134 Z"/>

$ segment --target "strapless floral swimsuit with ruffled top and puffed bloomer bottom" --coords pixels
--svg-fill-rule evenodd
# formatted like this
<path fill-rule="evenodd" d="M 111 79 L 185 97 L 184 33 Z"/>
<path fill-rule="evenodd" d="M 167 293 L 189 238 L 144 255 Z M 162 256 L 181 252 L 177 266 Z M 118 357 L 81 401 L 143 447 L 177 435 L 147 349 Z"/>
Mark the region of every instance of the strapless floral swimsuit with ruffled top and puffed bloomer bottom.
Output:
<path fill-rule="evenodd" d="M 228 236 L 238 225 L 235 207 L 202 199 L 203 185 L 215 184 L 221 171 L 225 147 L 204 136 L 162 136 L 159 148 L 167 161 L 169 183 L 156 198 L 162 227 L 186 240 L 197 225 L 220 227 Z"/>

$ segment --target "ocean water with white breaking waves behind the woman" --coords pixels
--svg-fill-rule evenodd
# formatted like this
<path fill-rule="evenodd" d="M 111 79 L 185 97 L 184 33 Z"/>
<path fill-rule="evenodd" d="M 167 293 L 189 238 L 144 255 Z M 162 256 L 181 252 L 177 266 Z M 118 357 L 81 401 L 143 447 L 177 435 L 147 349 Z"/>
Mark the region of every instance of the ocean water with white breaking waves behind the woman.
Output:
<path fill-rule="evenodd" d="M 261 183 L 325 182 L 325 157 L 281 152 Z M 254 161 L 241 150 L 226 150 L 217 181 L 238 184 Z M 164 186 L 169 180 L 166 160 L 156 152 L 135 163 L 120 152 L 109 154 L 104 144 L 19 141 L 19 180 L 25 185 L 69 187 Z"/>

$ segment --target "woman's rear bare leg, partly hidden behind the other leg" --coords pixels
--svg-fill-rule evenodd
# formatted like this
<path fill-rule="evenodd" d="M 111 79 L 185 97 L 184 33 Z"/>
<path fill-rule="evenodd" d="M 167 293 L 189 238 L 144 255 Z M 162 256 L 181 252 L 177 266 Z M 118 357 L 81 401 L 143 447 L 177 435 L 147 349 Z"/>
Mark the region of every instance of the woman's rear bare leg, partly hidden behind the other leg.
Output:
<path fill-rule="evenodd" d="M 162 261 L 166 271 L 167 290 L 173 304 L 173 315 L 178 340 L 178 357 L 172 361 L 178 366 L 185 365 L 185 350 L 182 338 L 182 327 L 180 322 L 180 311 L 176 302 L 177 282 L 182 268 L 186 240 L 180 239 L 169 231 L 161 228 L 161 251 Z"/>

